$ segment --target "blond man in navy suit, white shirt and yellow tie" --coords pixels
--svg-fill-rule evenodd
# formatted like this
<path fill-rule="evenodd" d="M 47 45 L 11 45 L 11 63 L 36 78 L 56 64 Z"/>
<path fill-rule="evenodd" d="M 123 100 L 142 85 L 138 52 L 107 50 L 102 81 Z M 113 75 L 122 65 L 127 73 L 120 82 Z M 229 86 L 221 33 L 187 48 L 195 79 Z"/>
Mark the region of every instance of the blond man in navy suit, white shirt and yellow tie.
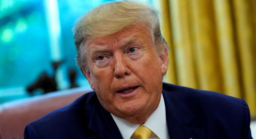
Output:
<path fill-rule="evenodd" d="M 90 92 L 27 125 L 24 138 L 251 138 L 245 101 L 167 83 L 168 46 L 155 9 L 105 3 L 74 29 Z"/>

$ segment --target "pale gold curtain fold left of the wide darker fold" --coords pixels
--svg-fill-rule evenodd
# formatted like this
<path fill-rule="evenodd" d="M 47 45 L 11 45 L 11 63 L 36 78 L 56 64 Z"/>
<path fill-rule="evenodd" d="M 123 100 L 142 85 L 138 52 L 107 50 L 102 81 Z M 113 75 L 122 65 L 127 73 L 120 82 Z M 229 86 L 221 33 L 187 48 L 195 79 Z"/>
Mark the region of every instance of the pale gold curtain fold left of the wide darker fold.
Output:
<path fill-rule="evenodd" d="M 188 6 L 186 1 L 170 1 L 169 19 L 171 19 L 177 83 L 182 86 L 197 87 Z"/>

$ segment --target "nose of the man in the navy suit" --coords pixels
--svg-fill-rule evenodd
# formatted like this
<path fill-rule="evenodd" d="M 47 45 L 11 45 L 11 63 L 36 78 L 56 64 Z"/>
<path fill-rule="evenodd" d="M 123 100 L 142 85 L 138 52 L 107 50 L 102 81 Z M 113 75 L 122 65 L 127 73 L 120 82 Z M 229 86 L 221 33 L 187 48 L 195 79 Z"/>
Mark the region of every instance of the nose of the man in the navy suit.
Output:
<path fill-rule="evenodd" d="M 123 54 L 118 54 L 114 56 L 114 76 L 115 78 L 120 78 L 125 75 L 130 75 L 131 70 L 129 69 L 127 65 L 127 60 L 125 59 L 125 56 Z"/>

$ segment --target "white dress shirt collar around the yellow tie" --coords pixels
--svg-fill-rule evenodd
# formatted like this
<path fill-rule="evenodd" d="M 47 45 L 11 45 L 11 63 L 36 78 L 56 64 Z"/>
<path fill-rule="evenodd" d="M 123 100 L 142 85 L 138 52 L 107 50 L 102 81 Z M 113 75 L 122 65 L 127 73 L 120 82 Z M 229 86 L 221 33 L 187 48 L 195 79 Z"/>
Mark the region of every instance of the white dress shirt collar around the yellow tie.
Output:
<path fill-rule="evenodd" d="M 113 117 L 123 139 L 134 139 L 132 134 L 140 124 L 130 123 L 113 115 L 112 113 L 111 116 Z M 161 95 L 161 100 L 156 111 L 153 112 L 147 121 L 142 125 L 146 126 L 153 132 L 150 139 L 169 139 L 163 94 Z"/>

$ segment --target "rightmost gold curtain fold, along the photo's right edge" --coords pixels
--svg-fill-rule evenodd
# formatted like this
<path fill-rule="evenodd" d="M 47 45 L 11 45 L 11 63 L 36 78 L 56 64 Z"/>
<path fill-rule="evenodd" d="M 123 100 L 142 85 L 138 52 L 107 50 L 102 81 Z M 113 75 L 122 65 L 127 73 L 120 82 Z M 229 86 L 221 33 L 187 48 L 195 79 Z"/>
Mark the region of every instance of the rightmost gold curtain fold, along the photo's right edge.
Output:
<path fill-rule="evenodd" d="M 239 58 L 242 71 L 241 77 L 243 80 L 242 86 L 244 87 L 244 98 L 249 106 L 256 106 L 256 59 L 253 58 L 255 53 L 252 53 L 253 48 L 256 47 L 256 36 L 255 34 L 253 35 L 253 13 L 250 11 L 249 1 L 234 0 L 233 4 L 237 30 L 236 38 L 238 40 Z M 253 109 L 251 112 L 255 113 Z"/>

